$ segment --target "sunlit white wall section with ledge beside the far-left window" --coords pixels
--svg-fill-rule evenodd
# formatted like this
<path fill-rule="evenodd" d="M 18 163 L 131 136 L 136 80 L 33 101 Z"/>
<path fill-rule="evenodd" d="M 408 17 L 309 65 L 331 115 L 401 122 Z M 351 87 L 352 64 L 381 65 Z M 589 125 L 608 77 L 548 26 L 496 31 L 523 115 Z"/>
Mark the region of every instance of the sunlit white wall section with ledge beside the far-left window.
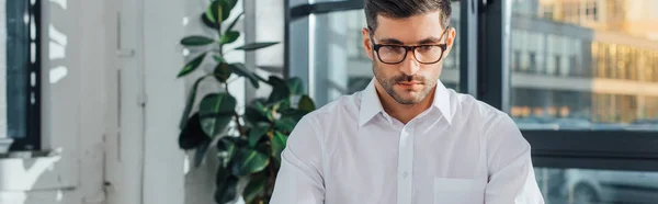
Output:
<path fill-rule="evenodd" d="M 105 4 L 43 1 L 42 146 L 53 156 L 0 160 L 0 203 L 104 200 Z"/>

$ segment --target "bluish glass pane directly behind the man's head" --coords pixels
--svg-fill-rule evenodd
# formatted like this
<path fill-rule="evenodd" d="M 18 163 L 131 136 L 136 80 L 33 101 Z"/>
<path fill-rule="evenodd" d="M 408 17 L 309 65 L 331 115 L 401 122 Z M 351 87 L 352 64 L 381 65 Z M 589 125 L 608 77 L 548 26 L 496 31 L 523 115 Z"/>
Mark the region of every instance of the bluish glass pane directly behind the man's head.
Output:
<path fill-rule="evenodd" d="M 460 4 L 453 2 L 451 26 L 458 30 Z M 343 94 L 363 90 L 373 78 L 372 63 L 364 53 L 361 30 L 363 10 L 311 15 L 309 19 L 309 81 L 316 103 L 324 105 Z M 294 35 L 294 34 L 293 34 Z M 291 50 L 294 55 L 294 48 Z M 294 60 L 294 58 L 293 58 Z M 441 81 L 457 90 L 460 82 L 460 37 L 443 61 Z M 297 71 L 303 73 L 303 71 Z M 458 91 L 458 90 L 457 90 Z"/>

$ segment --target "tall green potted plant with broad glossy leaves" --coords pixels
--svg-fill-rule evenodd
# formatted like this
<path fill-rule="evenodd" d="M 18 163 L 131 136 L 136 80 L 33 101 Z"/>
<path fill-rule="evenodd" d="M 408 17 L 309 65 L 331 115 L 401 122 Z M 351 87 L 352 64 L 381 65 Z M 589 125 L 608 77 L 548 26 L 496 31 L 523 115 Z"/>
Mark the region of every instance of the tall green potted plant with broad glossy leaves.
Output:
<path fill-rule="evenodd" d="M 259 77 L 240 63 L 229 63 L 224 58 L 224 46 L 234 43 L 240 33 L 232 27 L 242 15 L 240 13 L 225 30 L 222 29 L 237 0 L 214 0 L 202 14 L 201 21 L 217 33 L 217 37 L 202 35 L 186 36 L 181 44 L 188 47 L 205 47 L 191 55 L 178 77 L 184 77 L 200 67 L 205 58 L 212 58 L 214 70 L 196 79 L 180 123 L 179 146 L 195 150 L 194 165 L 198 167 L 209 148 L 216 148 L 219 167 L 216 173 L 216 203 L 229 203 L 238 197 L 238 180 L 248 180 L 242 197 L 246 203 L 269 203 L 274 189 L 276 172 L 281 166 L 281 151 L 287 135 L 305 114 L 315 110 L 313 100 L 305 94 L 303 81 L 298 78 L 282 79 L 271 76 Z M 252 52 L 277 44 L 276 42 L 251 43 L 235 49 Z M 243 114 L 236 110 L 236 99 L 228 90 L 230 76 L 246 78 L 251 86 L 259 88 L 259 81 L 272 87 L 266 99 L 249 102 Z M 203 97 L 198 112 L 191 113 L 195 104 L 196 88 L 204 79 L 215 80 L 222 89 Z M 227 131 L 229 124 L 235 131 Z M 216 145 L 213 145 L 216 144 Z M 212 146 L 213 145 L 213 146 Z"/>

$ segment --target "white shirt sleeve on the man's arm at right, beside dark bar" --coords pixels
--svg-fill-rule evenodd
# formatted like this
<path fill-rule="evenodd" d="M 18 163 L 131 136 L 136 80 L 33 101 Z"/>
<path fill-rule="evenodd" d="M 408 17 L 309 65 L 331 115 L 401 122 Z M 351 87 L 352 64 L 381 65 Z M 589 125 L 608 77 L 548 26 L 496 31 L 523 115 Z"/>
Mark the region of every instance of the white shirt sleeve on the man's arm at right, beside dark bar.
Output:
<path fill-rule="evenodd" d="M 544 204 L 535 180 L 530 144 L 506 114 L 489 128 L 486 204 Z"/>

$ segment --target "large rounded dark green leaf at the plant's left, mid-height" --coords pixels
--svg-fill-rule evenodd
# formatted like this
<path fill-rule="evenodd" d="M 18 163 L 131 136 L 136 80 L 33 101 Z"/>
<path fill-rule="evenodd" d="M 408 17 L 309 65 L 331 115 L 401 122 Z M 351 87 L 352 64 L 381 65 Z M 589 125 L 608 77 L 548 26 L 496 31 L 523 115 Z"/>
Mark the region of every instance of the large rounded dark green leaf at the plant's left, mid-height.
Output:
<path fill-rule="evenodd" d="M 201 100 L 198 115 L 201 127 L 211 138 L 228 125 L 236 110 L 236 99 L 227 93 L 212 93 Z"/>

